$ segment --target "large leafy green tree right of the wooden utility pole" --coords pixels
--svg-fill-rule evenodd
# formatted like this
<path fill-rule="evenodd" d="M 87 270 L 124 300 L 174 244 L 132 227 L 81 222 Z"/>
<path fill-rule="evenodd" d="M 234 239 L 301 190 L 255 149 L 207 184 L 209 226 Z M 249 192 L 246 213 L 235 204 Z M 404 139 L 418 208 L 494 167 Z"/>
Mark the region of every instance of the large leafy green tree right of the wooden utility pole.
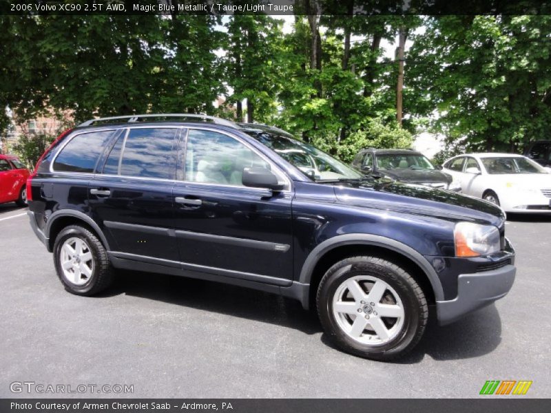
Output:
<path fill-rule="evenodd" d="M 407 57 L 406 100 L 471 150 L 514 151 L 551 132 L 550 16 L 444 16 L 424 21 Z"/>

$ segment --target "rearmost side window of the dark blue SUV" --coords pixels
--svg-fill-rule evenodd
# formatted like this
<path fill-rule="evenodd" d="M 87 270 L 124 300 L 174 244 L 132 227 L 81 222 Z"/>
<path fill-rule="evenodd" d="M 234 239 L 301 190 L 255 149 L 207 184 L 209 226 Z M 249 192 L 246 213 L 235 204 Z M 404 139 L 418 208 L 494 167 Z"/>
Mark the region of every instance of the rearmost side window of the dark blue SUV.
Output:
<path fill-rule="evenodd" d="M 56 172 L 94 172 L 96 162 L 113 131 L 98 131 L 74 136 L 54 160 Z"/>

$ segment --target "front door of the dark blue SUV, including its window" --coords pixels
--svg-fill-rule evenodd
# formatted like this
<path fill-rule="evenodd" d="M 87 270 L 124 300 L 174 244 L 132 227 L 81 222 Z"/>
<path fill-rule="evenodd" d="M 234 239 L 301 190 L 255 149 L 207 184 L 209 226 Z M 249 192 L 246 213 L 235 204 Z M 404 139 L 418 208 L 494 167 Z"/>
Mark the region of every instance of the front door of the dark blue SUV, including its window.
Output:
<path fill-rule="evenodd" d="M 174 185 L 183 268 L 290 284 L 290 182 L 280 193 L 242 184 L 245 167 L 265 167 L 286 180 L 283 173 L 244 141 L 219 131 L 189 129 L 183 149 L 182 180 Z"/>

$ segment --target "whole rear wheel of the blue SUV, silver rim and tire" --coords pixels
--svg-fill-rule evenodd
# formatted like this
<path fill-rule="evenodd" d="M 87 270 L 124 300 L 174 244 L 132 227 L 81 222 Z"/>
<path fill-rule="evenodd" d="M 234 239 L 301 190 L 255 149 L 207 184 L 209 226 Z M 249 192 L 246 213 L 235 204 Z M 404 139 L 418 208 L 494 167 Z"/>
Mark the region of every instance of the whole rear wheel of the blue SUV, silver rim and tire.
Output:
<path fill-rule="evenodd" d="M 107 251 L 92 231 L 79 225 L 67 226 L 56 237 L 54 263 L 65 289 L 76 295 L 94 295 L 113 280 Z"/>

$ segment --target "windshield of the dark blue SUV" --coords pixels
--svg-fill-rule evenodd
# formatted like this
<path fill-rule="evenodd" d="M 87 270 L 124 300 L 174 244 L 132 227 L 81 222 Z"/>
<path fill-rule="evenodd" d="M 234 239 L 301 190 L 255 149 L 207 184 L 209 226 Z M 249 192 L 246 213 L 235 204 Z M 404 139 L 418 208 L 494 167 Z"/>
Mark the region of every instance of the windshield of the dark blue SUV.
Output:
<path fill-rule="evenodd" d="M 245 133 L 278 153 L 284 160 L 297 167 L 312 180 L 359 180 L 363 178 L 362 173 L 307 143 L 262 131 L 245 131 Z"/>

